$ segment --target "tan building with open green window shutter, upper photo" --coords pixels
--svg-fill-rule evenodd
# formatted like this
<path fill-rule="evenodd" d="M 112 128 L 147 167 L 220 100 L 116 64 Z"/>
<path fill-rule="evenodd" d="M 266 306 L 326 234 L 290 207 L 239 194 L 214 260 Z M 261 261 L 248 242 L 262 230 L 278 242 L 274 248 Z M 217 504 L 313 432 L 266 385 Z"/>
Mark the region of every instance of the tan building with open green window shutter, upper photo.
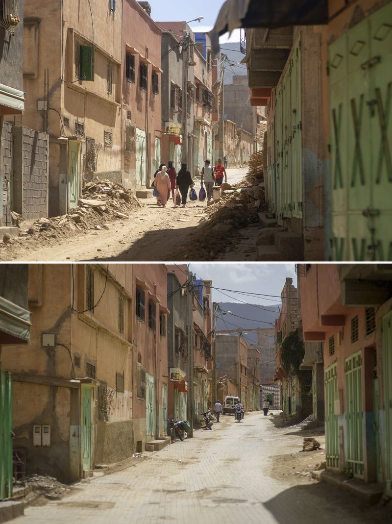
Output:
<path fill-rule="evenodd" d="M 122 1 L 24 5 L 23 125 L 49 135 L 49 215 L 83 178 L 121 181 Z M 49 51 L 50 49 L 50 51 Z"/>

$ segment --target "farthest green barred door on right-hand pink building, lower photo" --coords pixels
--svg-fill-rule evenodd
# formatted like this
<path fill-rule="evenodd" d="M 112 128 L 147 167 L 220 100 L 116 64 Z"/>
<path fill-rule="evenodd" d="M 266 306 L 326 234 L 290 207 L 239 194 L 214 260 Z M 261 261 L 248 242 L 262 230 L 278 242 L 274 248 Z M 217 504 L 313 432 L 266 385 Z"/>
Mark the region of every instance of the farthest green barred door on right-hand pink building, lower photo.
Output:
<path fill-rule="evenodd" d="M 337 366 L 325 370 L 325 459 L 329 468 L 339 468 L 339 430 L 335 415 L 335 393 L 337 392 Z"/>

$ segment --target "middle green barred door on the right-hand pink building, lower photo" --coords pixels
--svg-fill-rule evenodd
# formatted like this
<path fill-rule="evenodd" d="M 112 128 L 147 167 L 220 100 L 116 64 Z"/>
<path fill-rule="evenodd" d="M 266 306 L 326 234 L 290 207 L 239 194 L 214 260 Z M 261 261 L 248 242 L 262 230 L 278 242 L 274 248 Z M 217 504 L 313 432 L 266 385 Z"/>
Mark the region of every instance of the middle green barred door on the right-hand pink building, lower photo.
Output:
<path fill-rule="evenodd" d="M 346 358 L 346 464 L 354 477 L 363 478 L 363 409 L 362 409 L 362 353 Z"/>

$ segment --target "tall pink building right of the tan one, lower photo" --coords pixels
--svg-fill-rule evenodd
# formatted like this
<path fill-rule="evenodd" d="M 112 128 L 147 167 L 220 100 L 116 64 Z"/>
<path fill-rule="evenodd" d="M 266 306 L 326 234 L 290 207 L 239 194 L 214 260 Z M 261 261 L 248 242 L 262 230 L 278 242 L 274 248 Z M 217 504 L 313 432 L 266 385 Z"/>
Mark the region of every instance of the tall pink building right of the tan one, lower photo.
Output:
<path fill-rule="evenodd" d="M 133 432 L 137 451 L 166 433 L 167 268 L 133 265 Z"/>

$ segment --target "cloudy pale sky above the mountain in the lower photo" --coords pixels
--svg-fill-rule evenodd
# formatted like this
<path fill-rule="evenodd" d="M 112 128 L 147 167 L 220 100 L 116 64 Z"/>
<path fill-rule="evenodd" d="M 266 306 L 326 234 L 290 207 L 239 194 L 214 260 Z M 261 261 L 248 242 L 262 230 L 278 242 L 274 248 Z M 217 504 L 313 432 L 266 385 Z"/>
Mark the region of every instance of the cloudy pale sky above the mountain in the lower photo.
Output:
<path fill-rule="evenodd" d="M 293 284 L 297 286 L 294 264 L 200 263 L 190 264 L 190 269 L 199 278 L 212 280 L 213 287 L 217 288 L 280 296 L 286 277 L 291 277 Z M 278 305 L 280 303 L 280 299 L 274 297 L 247 297 L 230 291 L 223 291 L 223 293 L 234 299 L 213 289 L 213 301 L 234 302 L 237 298 L 251 304 Z"/>

